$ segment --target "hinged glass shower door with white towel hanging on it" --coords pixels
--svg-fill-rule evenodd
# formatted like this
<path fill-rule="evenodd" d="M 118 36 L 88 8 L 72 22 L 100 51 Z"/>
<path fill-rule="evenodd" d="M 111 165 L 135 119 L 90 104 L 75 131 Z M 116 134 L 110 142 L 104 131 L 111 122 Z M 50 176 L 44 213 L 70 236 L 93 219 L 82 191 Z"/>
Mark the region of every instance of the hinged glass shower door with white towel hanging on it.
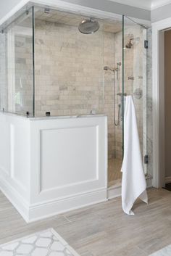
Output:
<path fill-rule="evenodd" d="M 146 28 L 124 17 L 123 88 L 133 96 L 141 144 L 142 159 L 146 155 Z M 144 162 L 144 161 L 143 161 Z M 146 174 L 146 164 L 143 164 Z"/>

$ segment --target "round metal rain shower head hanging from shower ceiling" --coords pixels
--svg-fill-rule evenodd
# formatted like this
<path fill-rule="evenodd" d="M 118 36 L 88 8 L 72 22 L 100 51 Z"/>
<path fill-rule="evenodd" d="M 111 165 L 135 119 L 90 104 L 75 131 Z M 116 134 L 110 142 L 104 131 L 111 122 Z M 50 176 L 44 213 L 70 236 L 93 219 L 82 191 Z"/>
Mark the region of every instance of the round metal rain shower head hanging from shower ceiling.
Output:
<path fill-rule="evenodd" d="M 83 34 L 93 34 L 99 30 L 99 28 L 99 22 L 97 20 L 93 20 L 92 18 L 90 20 L 82 20 L 78 26 L 78 30 Z"/>

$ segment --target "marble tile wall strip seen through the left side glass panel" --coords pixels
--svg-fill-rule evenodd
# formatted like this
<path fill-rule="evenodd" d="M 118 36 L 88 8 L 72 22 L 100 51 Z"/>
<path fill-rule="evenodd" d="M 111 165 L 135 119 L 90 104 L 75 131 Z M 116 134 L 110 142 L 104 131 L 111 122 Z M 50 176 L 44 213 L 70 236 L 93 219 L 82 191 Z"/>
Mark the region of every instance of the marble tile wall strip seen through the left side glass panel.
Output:
<path fill-rule="evenodd" d="M 14 37 L 15 112 L 33 115 L 33 38 Z"/>

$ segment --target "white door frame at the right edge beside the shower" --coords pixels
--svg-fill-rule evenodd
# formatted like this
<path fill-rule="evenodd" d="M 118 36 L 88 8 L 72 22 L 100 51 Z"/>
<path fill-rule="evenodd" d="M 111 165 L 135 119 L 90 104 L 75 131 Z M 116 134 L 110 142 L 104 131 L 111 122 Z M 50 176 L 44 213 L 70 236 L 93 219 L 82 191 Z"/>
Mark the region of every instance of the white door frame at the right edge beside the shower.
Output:
<path fill-rule="evenodd" d="M 152 25 L 152 99 L 153 99 L 153 186 L 165 184 L 164 166 L 164 32 L 171 18 Z"/>

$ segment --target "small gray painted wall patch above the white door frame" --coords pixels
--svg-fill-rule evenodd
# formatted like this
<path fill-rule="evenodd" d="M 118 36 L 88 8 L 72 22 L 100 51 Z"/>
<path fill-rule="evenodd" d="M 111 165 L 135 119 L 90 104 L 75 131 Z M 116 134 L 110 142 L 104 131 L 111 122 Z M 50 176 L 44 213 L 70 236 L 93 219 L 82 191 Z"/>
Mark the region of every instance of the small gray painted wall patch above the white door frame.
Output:
<path fill-rule="evenodd" d="M 171 4 L 160 7 L 151 11 L 151 22 L 167 19 L 171 17 Z"/>

